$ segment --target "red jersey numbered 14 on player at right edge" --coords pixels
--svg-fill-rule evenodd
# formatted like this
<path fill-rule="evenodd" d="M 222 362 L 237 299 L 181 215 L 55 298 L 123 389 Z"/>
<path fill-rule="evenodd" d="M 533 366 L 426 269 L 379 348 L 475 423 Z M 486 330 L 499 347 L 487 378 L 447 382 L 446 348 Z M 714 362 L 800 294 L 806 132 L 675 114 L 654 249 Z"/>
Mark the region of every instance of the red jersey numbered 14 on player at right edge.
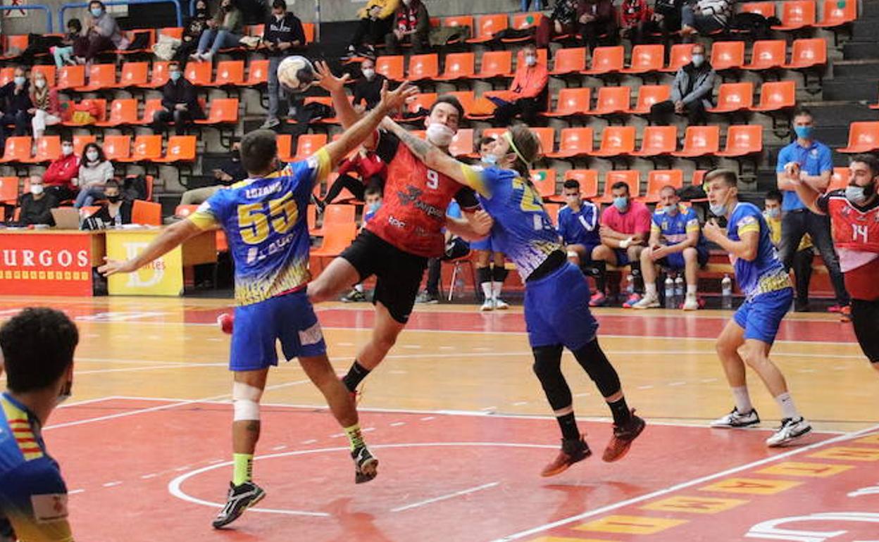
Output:
<path fill-rule="evenodd" d="M 879 299 L 879 199 L 856 206 L 845 191 L 834 190 L 819 197 L 815 205 L 830 215 L 848 293 L 856 300 Z"/>

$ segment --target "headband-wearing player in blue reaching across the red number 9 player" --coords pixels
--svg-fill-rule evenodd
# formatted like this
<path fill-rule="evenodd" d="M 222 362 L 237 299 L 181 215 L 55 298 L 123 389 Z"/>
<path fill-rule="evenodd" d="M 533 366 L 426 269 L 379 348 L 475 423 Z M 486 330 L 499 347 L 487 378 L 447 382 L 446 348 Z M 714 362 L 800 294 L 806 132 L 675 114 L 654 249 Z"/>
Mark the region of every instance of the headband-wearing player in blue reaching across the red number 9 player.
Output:
<path fill-rule="evenodd" d="M 516 264 L 525 283 L 525 320 L 534 372 L 562 430 L 562 451 L 541 475 L 562 473 L 592 455 L 578 429 L 570 387 L 561 371 L 563 348 L 573 352 L 595 381 L 614 416 L 614 436 L 603 459 L 621 459 L 643 431 L 644 421 L 629 410 L 620 378 L 599 347 L 599 324 L 589 311 L 589 285 L 568 262 L 552 220 L 529 180 L 528 170 L 540 147 L 536 136 L 527 126 L 510 128 L 494 144 L 497 165 L 481 168 L 458 162 L 390 119 L 385 119 L 383 126 L 428 168 L 476 191 L 480 204 L 494 219 L 492 240 Z"/>

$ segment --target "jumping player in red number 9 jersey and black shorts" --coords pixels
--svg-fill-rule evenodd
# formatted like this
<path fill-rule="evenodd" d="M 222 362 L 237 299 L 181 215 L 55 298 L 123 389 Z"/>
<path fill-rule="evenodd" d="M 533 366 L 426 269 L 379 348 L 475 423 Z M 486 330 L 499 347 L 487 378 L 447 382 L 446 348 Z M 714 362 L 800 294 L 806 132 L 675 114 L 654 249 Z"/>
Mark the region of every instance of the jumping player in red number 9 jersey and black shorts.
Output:
<path fill-rule="evenodd" d="M 322 86 L 330 90 L 338 118 L 347 128 L 359 116 L 345 96 L 346 76 L 333 76 L 323 62 L 318 62 L 316 68 Z M 331 80 L 335 85 L 328 87 L 326 82 Z M 427 139 L 447 151 L 463 113 L 457 98 L 437 98 L 425 119 Z M 443 254 L 443 228 L 465 239 L 483 237 L 491 228 L 488 214 L 476 212 L 478 203 L 472 190 L 428 169 L 395 135 L 377 132 L 364 141 L 364 146 L 374 148 L 388 164 L 383 203 L 351 246 L 309 284 L 309 300 L 318 303 L 335 299 L 338 293 L 372 275 L 376 277 L 373 336 L 345 375 L 345 386 L 351 392 L 381 363 L 406 327 L 427 259 Z M 446 216 L 446 207 L 453 198 L 461 205 L 464 219 Z"/>

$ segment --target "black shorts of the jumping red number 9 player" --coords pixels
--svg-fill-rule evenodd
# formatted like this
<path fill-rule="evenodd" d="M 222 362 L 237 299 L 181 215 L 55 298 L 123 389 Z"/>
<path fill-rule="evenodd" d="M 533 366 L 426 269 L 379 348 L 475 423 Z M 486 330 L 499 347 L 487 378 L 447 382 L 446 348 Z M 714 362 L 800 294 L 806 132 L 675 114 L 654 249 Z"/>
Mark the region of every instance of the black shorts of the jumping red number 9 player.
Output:
<path fill-rule="evenodd" d="M 354 266 L 361 281 L 375 275 L 373 303 L 381 301 L 397 322 L 409 322 L 427 258 L 397 249 L 366 229 L 340 257 Z"/>

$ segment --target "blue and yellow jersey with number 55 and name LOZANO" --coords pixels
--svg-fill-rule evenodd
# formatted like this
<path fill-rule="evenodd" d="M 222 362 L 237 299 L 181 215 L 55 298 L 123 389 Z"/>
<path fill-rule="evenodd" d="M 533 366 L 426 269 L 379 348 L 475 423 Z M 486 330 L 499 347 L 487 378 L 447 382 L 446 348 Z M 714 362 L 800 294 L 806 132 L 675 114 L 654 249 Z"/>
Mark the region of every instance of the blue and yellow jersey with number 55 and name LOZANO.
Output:
<path fill-rule="evenodd" d="M 316 181 L 330 172 L 323 148 L 264 178 L 216 192 L 189 220 L 219 225 L 235 260 L 235 300 L 251 305 L 309 282 L 309 227 L 305 210 Z"/>

